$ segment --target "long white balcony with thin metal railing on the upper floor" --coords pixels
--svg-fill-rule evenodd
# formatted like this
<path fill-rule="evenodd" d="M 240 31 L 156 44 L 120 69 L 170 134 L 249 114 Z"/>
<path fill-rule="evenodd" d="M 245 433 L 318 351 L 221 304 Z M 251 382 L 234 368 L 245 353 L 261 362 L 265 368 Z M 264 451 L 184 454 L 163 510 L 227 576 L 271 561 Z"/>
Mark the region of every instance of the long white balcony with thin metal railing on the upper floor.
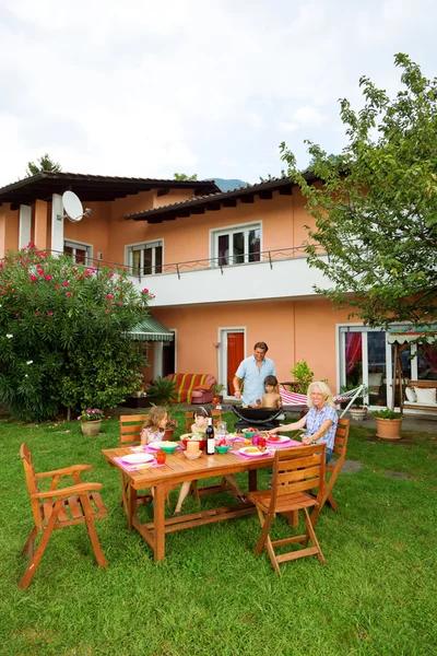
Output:
<path fill-rule="evenodd" d="M 162 269 L 157 274 L 130 277 L 138 289 L 146 286 L 155 294 L 151 307 L 314 298 L 314 285 L 329 284 L 318 269 L 308 267 L 302 248 L 263 251 L 260 261 L 222 266 L 218 259 L 203 259 Z"/>

